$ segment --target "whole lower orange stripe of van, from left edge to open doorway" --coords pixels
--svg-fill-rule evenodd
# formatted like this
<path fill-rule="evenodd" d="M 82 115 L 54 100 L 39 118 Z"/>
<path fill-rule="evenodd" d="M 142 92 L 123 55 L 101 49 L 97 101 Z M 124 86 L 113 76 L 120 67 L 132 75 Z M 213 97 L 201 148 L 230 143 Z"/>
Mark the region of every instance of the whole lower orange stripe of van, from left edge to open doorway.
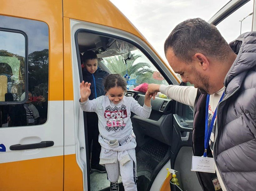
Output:
<path fill-rule="evenodd" d="M 64 190 L 83 190 L 75 154 L 65 155 Z M 63 156 L 0 164 L 1 191 L 63 190 Z"/>

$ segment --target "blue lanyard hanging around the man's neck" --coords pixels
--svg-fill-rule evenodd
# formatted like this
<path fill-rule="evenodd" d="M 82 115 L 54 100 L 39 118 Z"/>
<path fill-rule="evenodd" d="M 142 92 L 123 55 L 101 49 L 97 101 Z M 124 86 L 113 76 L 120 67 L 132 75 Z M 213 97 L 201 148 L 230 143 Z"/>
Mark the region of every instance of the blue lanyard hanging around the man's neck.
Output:
<path fill-rule="evenodd" d="M 225 91 L 224 91 L 225 92 Z M 222 94 L 221 98 L 220 98 L 220 101 L 219 103 L 221 102 L 221 100 L 223 99 L 224 97 L 224 93 Z M 214 114 L 212 116 L 212 120 L 211 120 L 211 124 L 210 124 L 210 128 L 209 128 L 209 131 L 208 131 L 208 115 L 209 115 L 209 101 L 210 101 L 210 95 L 207 94 L 207 98 L 206 98 L 206 107 L 205 107 L 205 152 L 204 152 L 204 157 L 207 157 L 207 148 L 209 146 L 209 141 L 210 141 L 210 136 L 211 136 L 211 132 L 212 132 L 212 128 L 213 128 L 213 124 L 214 124 L 214 121 L 215 121 L 215 118 L 216 118 L 216 111 L 217 111 L 217 107 L 214 111 Z"/>

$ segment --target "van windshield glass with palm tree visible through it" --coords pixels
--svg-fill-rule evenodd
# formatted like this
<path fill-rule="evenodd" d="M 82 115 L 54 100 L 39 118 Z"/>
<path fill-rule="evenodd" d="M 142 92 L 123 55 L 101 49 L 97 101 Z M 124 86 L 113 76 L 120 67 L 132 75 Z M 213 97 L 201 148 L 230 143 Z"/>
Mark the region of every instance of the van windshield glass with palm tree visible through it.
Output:
<path fill-rule="evenodd" d="M 139 49 L 132 50 L 130 53 L 132 58 L 126 60 L 126 64 L 123 59 L 127 53 L 104 57 L 102 62 L 111 73 L 118 73 L 122 76 L 127 74 L 129 76 L 127 81 L 128 86 L 132 85 L 136 87 L 142 83 L 168 85 L 167 81 L 152 62 Z"/>

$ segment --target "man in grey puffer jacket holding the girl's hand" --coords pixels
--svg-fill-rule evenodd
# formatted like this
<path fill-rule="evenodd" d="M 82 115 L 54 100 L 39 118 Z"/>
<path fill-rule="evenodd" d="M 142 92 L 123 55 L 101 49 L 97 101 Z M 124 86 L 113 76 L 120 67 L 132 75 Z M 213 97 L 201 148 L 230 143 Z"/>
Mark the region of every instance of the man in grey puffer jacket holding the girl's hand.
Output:
<path fill-rule="evenodd" d="M 215 26 L 189 19 L 174 28 L 164 49 L 172 69 L 195 87 L 149 84 L 148 91 L 194 106 L 193 153 L 205 152 L 216 168 L 216 174 L 198 172 L 202 188 L 255 190 L 256 32 L 228 44 Z"/>

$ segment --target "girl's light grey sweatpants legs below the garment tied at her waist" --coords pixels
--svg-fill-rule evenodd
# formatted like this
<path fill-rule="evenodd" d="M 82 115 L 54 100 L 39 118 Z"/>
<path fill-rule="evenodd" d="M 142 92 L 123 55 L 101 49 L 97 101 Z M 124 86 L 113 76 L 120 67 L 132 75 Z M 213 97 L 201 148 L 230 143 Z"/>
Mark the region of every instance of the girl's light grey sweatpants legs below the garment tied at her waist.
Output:
<path fill-rule="evenodd" d="M 135 149 L 134 156 L 135 156 Z M 119 176 L 121 174 L 122 182 L 125 191 L 137 191 L 136 186 L 136 160 L 130 157 L 130 161 L 128 161 L 123 166 L 117 163 L 105 164 L 105 168 L 108 174 L 108 180 L 113 183 L 117 183 Z"/>

